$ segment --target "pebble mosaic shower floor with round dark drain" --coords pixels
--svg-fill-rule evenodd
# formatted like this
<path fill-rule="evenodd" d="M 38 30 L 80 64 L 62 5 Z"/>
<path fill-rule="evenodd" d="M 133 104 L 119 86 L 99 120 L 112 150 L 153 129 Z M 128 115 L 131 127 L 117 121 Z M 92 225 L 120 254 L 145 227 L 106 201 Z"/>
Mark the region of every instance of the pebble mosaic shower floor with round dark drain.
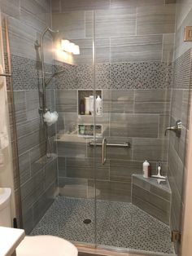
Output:
<path fill-rule="evenodd" d="M 57 196 L 31 235 L 94 244 L 94 200 Z M 89 218 L 91 223 L 83 221 Z M 97 243 L 159 253 L 174 252 L 170 229 L 131 203 L 97 201 Z"/>

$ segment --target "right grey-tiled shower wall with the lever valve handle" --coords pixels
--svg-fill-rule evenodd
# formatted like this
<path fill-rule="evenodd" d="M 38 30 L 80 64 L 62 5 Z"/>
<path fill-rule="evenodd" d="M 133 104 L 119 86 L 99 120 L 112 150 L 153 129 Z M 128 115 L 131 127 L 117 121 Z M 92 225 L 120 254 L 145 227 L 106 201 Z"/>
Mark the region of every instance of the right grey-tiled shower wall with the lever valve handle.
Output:
<path fill-rule="evenodd" d="M 184 42 L 184 28 L 192 25 L 192 2 L 177 1 L 176 34 L 174 45 L 171 125 L 181 119 L 181 138 L 169 132 L 168 180 L 172 189 L 172 230 L 181 230 L 183 188 L 185 188 L 185 148 L 189 133 L 189 107 L 191 88 L 191 47 Z"/>

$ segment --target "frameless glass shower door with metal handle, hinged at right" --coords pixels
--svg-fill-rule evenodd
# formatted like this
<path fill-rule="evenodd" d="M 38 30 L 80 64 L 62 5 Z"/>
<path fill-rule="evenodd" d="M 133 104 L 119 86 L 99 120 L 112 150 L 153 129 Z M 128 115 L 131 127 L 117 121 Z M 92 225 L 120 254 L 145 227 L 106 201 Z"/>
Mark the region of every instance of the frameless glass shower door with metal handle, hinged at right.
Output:
<path fill-rule="evenodd" d="M 96 114 L 96 126 L 103 125 L 97 140 L 107 139 L 102 173 L 95 167 L 97 245 L 172 254 L 164 130 L 170 117 L 175 6 L 117 2 L 94 11 L 95 88 L 102 89 L 103 103 L 102 115 Z M 163 24 L 157 24 L 155 13 Z M 98 146 L 95 161 L 101 159 Z M 143 178 L 145 160 L 151 176 L 159 167 L 159 177 Z"/>

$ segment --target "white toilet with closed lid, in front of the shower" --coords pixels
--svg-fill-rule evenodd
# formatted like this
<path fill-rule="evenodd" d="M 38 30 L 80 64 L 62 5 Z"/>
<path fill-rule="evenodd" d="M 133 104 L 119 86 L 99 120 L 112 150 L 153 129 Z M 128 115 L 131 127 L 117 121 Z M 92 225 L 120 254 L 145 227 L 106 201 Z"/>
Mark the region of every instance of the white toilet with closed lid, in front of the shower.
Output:
<path fill-rule="evenodd" d="M 0 226 L 11 227 L 11 188 L 0 188 Z M 76 246 L 57 236 L 25 236 L 17 256 L 77 256 Z"/>

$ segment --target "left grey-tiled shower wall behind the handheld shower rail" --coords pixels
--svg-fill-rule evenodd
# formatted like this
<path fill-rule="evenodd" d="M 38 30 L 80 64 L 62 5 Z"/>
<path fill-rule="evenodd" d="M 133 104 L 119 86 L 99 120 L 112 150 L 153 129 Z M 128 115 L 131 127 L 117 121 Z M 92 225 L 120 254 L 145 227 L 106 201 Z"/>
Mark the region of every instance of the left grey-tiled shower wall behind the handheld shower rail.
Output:
<path fill-rule="evenodd" d="M 35 42 L 46 26 L 51 25 L 49 0 L 21 0 L 0 2 L 2 12 L 8 17 L 11 47 L 11 72 L 13 75 L 13 95 L 10 87 L 10 117 L 12 145 L 15 158 L 15 194 L 21 191 L 24 229 L 28 233 L 45 214 L 55 197 L 57 187 L 57 160 L 53 154 L 46 158 L 46 141 L 43 122 L 38 113 L 41 96 L 41 63 Z M 5 53 L 7 63 L 7 52 Z M 53 69 L 52 39 L 45 40 L 46 76 Z M 47 90 L 47 106 L 55 108 L 54 85 Z M 12 97 L 14 99 L 12 99 Z M 40 97 L 41 98 L 41 97 Z M 14 105 L 12 104 L 14 100 Z M 14 130 L 16 128 L 16 135 Z M 50 143 L 55 152 L 55 127 L 49 130 Z M 16 174 L 17 151 L 19 155 L 20 177 Z"/>

